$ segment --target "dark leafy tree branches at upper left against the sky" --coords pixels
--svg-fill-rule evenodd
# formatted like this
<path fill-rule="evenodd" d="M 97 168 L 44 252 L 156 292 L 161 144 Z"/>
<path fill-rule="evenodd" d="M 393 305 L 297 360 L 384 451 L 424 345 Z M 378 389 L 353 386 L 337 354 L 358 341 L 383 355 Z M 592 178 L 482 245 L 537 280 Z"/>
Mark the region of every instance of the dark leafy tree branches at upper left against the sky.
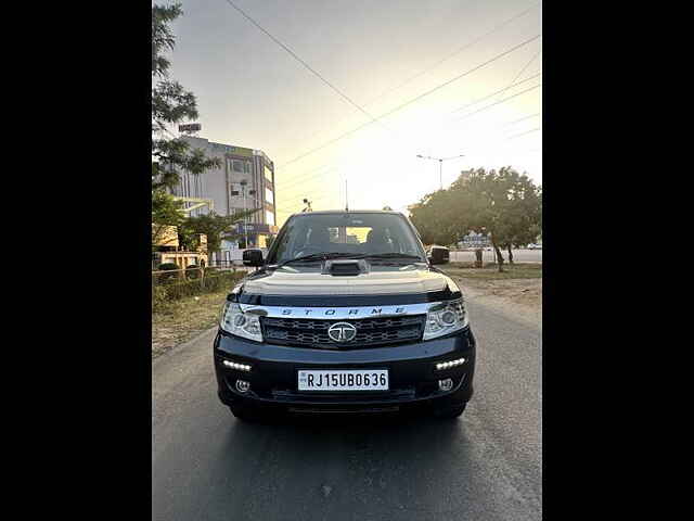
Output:
<path fill-rule="evenodd" d="M 166 137 L 168 125 L 196 119 L 195 96 L 169 78 L 169 60 L 165 53 L 174 50 L 176 38 L 169 25 L 183 14 L 180 3 L 152 5 L 152 188 L 172 188 L 179 170 L 200 175 L 218 167 L 218 158 L 207 158 L 200 150 L 190 151 L 181 138 Z M 152 203 L 155 200 L 153 195 Z"/>

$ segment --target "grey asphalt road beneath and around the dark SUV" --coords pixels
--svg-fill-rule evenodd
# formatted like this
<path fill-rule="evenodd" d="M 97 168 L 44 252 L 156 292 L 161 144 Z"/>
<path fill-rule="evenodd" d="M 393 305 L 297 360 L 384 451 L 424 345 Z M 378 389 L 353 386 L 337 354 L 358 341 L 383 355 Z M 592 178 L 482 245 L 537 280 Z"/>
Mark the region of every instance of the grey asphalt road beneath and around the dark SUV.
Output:
<path fill-rule="evenodd" d="M 153 361 L 153 520 L 540 520 L 541 329 L 468 301 L 475 396 L 459 420 L 237 421 L 214 331 Z"/>

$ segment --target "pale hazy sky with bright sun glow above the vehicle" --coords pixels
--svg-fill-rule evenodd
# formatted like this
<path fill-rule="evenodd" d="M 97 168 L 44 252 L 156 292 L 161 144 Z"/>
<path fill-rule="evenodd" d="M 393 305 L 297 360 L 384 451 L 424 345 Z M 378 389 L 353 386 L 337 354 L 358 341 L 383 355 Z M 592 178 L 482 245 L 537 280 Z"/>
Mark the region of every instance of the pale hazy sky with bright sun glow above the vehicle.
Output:
<path fill-rule="evenodd" d="M 227 0 L 182 0 L 171 77 L 197 98 L 197 136 L 274 162 L 278 225 L 304 198 L 344 208 L 346 181 L 350 208 L 407 213 L 440 187 L 417 154 L 463 155 L 444 187 L 507 165 L 542 183 L 541 2 L 231 1 L 354 103 Z"/>

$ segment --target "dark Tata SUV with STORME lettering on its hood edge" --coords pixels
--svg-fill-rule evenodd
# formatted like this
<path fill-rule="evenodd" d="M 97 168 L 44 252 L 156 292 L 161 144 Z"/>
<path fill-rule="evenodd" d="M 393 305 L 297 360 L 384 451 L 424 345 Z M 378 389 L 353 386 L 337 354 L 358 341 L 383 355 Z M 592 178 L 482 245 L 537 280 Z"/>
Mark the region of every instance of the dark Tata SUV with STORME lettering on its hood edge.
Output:
<path fill-rule="evenodd" d="M 240 419 L 426 408 L 473 395 L 475 338 L 458 284 L 397 212 L 295 214 L 223 305 L 218 395 Z"/>

